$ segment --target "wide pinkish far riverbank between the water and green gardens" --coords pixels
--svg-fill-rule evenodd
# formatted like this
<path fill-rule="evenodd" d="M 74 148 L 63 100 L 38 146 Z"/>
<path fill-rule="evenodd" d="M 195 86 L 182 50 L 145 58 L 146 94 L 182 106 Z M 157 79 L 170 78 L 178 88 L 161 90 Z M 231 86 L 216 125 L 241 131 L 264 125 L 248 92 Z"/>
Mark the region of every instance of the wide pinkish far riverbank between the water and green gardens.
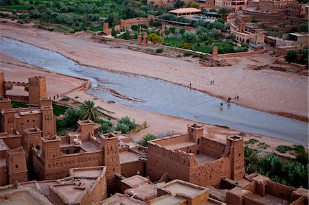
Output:
<path fill-rule="evenodd" d="M 80 64 L 183 86 L 191 83 L 192 88 L 209 95 L 224 100 L 231 97 L 240 106 L 308 122 L 308 77 L 267 68 L 249 69 L 273 64 L 268 55 L 235 58 L 238 63 L 229 67 L 202 67 L 194 58 L 167 58 L 124 49 L 116 43 L 95 43 L 91 34 L 84 32 L 60 34 L 12 23 L 1 23 L 0 29 L 0 36 L 57 51 Z M 235 95 L 240 99 L 234 100 Z"/>

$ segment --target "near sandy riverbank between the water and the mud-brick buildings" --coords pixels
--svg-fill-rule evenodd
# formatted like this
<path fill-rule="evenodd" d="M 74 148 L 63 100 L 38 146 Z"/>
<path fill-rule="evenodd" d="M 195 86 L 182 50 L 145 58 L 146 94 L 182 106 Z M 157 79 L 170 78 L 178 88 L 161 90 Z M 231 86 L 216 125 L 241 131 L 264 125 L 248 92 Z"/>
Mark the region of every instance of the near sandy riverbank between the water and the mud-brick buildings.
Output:
<path fill-rule="evenodd" d="M 148 110 L 141 110 L 122 104 L 111 104 L 104 99 L 99 99 L 98 97 L 89 94 L 87 91 L 84 91 L 84 89 L 72 89 L 74 86 L 80 86 L 80 84 L 84 84 L 84 80 L 80 80 L 76 77 L 69 77 L 67 75 L 60 75 L 51 71 L 45 71 L 45 69 L 20 62 L 19 60 L 16 60 L 15 58 L 7 56 L 3 53 L 0 53 L 0 58 L 0 71 L 5 73 L 5 78 L 8 78 L 8 80 L 27 82 L 27 78 L 31 77 L 32 75 L 43 75 L 47 78 L 48 95 L 55 95 L 60 91 L 65 93 L 71 91 L 70 93 L 67 93 L 67 97 L 70 97 L 74 101 L 78 101 L 80 103 L 82 103 L 84 100 L 93 100 L 95 101 L 96 106 L 101 106 L 102 108 L 108 110 L 108 114 L 111 115 L 113 119 L 120 119 L 125 116 L 130 116 L 131 118 L 134 118 L 139 124 L 142 124 L 144 121 L 146 121 L 148 128 L 141 130 L 140 132 L 137 132 L 131 136 L 135 142 L 139 141 L 142 136 L 148 133 L 155 134 L 157 136 L 163 136 L 167 133 L 185 133 L 187 132 L 187 125 L 193 123 L 198 123 L 205 126 L 205 136 L 215 138 L 216 140 L 222 141 L 224 143 L 226 141 L 226 136 L 240 134 L 240 131 L 238 130 L 232 130 L 218 125 L 199 123 L 180 117 L 172 117 L 170 115 L 150 112 Z M 260 143 L 266 143 L 266 145 L 269 147 L 262 149 L 264 152 L 273 152 L 277 145 L 292 146 L 296 144 L 290 141 L 284 141 L 279 138 L 273 138 L 271 136 L 251 134 L 247 132 L 242 132 L 242 134 L 246 137 L 244 141 L 249 141 L 251 138 L 255 138 Z M 257 145 L 253 145 L 251 147 L 258 149 Z M 290 154 L 286 154 L 286 156 L 293 158 L 293 155 Z"/>

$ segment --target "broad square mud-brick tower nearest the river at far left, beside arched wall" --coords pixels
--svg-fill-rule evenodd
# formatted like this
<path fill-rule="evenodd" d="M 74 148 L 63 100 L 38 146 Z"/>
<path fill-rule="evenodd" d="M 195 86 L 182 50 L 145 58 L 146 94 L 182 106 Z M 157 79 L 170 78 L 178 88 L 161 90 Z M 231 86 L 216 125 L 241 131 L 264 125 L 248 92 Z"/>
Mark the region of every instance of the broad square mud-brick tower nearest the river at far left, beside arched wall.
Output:
<path fill-rule="evenodd" d="M 46 80 L 43 76 L 29 78 L 29 103 L 40 104 L 40 99 L 46 97 Z"/>

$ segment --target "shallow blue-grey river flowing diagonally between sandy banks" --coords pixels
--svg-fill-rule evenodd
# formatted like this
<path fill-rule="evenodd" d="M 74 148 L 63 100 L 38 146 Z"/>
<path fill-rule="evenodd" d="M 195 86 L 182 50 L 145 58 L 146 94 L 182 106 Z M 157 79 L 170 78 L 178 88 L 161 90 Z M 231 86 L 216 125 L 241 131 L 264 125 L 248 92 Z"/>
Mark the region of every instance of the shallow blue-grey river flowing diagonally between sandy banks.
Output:
<path fill-rule="evenodd" d="M 220 99 L 184 86 L 80 66 L 59 53 L 11 38 L 0 37 L 0 51 L 49 71 L 91 78 L 89 93 L 119 104 L 308 144 L 308 123 L 302 121 L 235 104 L 221 107 Z"/>

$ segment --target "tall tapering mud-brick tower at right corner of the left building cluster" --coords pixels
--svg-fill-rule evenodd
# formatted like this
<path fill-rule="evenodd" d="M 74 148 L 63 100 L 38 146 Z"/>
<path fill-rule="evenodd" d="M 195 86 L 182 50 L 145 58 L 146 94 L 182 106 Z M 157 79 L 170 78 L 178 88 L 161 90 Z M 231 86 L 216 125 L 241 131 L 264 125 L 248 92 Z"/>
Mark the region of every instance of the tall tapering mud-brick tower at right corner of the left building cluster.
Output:
<path fill-rule="evenodd" d="M 101 135 L 101 149 L 104 151 L 104 166 L 106 166 L 106 180 L 108 187 L 115 187 L 115 176 L 121 174 L 119 161 L 118 137 L 113 134 Z"/>

